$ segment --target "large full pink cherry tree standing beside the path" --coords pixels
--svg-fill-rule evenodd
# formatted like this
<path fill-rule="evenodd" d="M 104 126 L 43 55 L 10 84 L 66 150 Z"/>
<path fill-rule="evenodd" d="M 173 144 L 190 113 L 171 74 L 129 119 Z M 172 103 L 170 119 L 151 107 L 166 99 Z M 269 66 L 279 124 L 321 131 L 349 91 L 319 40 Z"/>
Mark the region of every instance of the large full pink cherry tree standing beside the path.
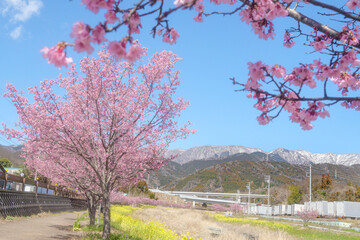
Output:
<path fill-rule="evenodd" d="M 135 64 L 98 54 L 81 60 L 80 72 L 72 65 L 68 76 L 29 88 L 33 101 L 8 84 L 4 95 L 13 101 L 19 123 L 2 132 L 24 141 L 26 163 L 41 174 L 65 181 L 68 169 L 66 181 L 100 191 L 108 238 L 110 192 L 163 166 L 169 144 L 195 131 L 175 121 L 189 105 L 174 97 L 180 84 L 176 55 L 163 51 L 148 64 Z"/>

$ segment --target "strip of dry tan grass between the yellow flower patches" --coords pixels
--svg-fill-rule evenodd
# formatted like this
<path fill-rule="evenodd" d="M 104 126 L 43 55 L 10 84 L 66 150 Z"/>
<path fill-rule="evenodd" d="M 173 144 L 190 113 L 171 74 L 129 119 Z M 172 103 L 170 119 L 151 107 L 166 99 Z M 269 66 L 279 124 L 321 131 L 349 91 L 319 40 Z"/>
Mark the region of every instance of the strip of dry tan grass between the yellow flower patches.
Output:
<path fill-rule="evenodd" d="M 176 208 L 144 208 L 134 212 L 133 217 L 143 221 L 155 220 L 167 226 L 178 234 L 190 233 L 194 239 L 203 240 L 295 240 L 282 231 L 271 231 L 268 229 L 250 225 L 229 224 L 216 222 L 204 211 L 193 209 Z M 213 235 L 216 230 L 220 235 Z"/>

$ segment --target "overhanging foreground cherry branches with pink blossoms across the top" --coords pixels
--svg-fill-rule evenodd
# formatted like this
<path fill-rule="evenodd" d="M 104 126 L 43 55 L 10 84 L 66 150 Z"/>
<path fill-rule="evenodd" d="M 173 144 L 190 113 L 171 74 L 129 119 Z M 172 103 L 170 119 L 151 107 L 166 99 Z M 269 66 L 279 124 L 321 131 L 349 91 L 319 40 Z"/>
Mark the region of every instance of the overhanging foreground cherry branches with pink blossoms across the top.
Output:
<path fill-rule="evenodd" d="M 171 16 L 177 11 L 193 11 L 196 22 L 217 15 L 239 15 L 239 22 L 250 25 L 254 34 L 264 40 L 274 38 L 274 20 L 281 18 L 293 23 L 281 33 L 284 46 L 290 48 L 296 41 L 302 42 L 315 53 L 314 60 L 299 63 L 292 69 L 285 69 L 281 63 L 270 66 L 260 60 L 249 62 L 247 81 L 231 79 L 240 87 L 239 91 L 248 92 L 248 97 L 256 101 L 254 107 L 261 112 L 259 123 L 267 124 L 286 111 L 291 121 L 308 130 L 312 121 L 329 117 L 328 108 L 334 104 L 360 110 L 360 97 L 356 94 L 360 86 L 357 56 L 360 0 L 138 0 L 135 3 L 82 0 L 82 4 L 94 14 L 100 14 L 100 23 L 96 26 L 74 23 L 73 43 L 62 41 L 42 49 L 49 63 L 67 66 L 71 62 L 65 54 L 67 47 L 91 53 L 94 44 L 107 41 L 106 35 L 115 34 L 120 28 L 126 28 L 127 33 L 119 36 L 121 40 L 111 41 L 109 51 L 118 59 L 133 62 L 141 55 L 134 36 L 143 30 L 149 32 L 141 24 L 148 16 L 154 19 L 150 29 L 153 37 L 160 36 L 169 44 L 175 44 L 180 37 L 171 25 Z M 334 87 L 338 91 L 331 91 Z"/>

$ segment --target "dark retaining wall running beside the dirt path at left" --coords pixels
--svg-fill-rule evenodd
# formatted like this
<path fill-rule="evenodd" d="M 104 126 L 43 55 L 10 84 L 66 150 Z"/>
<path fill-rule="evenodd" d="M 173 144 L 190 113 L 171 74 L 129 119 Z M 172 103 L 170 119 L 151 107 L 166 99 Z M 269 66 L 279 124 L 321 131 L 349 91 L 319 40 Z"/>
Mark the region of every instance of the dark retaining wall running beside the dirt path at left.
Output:
<path fill-rule="evenodd" d="M 4 218 L 83 209 L 86 209 L 86 200 L 83 199 L 0 190 L 0 216 Z"/>

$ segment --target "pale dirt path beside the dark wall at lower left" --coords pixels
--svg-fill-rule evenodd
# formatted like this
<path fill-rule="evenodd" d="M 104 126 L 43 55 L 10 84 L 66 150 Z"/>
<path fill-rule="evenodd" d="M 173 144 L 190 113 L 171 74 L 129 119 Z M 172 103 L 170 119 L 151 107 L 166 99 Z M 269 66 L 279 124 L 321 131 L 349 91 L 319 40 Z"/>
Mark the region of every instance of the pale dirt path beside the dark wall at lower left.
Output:
<path fill-rule="evenodd" d="M 73 232 L 76 212 L 42 217 L 30 217 L 0 222 L 1 240 L 80 239 L 81 233 Z M 79 214 L 80 215 L 80 214 Z"/>

